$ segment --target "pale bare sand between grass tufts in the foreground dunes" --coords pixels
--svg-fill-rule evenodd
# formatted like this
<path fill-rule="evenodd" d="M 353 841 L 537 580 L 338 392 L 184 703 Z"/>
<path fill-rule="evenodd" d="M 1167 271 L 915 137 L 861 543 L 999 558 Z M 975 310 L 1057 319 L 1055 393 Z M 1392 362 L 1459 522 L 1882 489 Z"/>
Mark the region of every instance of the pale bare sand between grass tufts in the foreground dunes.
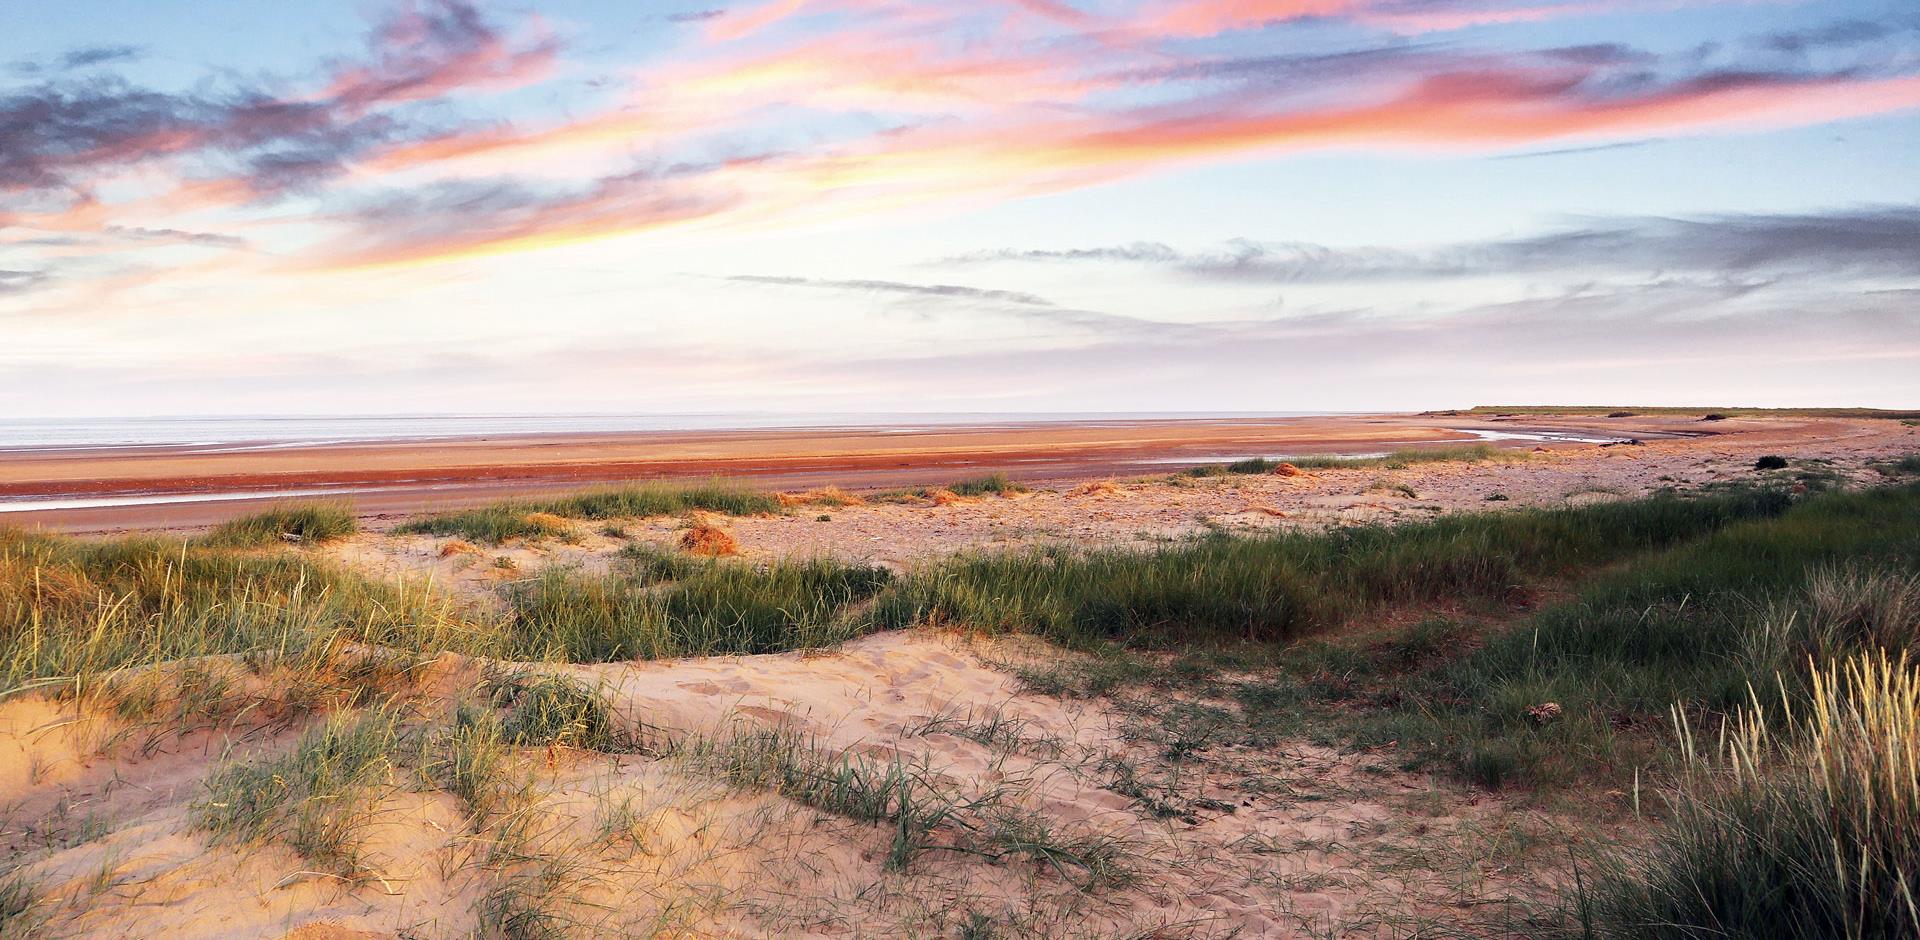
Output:
<path fill-rule="evenodd" d="M 952 936 L 970 915 L 1004 936 L 1309 936 L 1442 913 L 1469 882 L 1475 898 L 1521 890 L 1486 833 L 1540 829 L 1536 811 L 1371 754 L 1288 744 L 1192 764 L 1162 790 L 1183 811 L 1150 811 L 1119 792 L 1116 767 L 1164 781 L 1160 750 L 1129 733 L 1135 717 L 1114 704 L 1021 693 L 1004 664 L 1035 656 L 1058 650 L 914 631 L 828 654 L 563 671 L 603 689 L 628 727 L 655 739 L 780 727 L 829 752 L 899 756 L 973 798 L 993 790 L 1064 840 L 1117 846 L 1123 871 L 1110 882 L 1087 890 L 1091 877 L 1071 865 L 941 850 L 893 871 L 885 825 L 728 788 L 645 754 L 534 750 L 522 754 L 538 779 L 530 842 L 564 869 L 557 909 L 580 936 Z M 480 668 L 447 658 L 436 685 L 451 694 Z M 995 744 L 960 733 L 989 716 L 1018 733 Z M 60 930 L 467 936 L 501 884 L 545 877 L 536 863 L 492 858 L 451 796 L 407 787 L 372 810 L 361 884 L 317 873 L 280 844 L 209 848 L 188 810 L 205 798 L 202 775 L 221 754 L 278 752 L 300 727 L 123 731 L 71 706 L 0 706 L 6 844 L 40 850 L 25 871 L 56 898 Z M 939 844 L 962 842 L 941 834 Z M 1430 858 L 1407 865 L 1415 852 Z"/>

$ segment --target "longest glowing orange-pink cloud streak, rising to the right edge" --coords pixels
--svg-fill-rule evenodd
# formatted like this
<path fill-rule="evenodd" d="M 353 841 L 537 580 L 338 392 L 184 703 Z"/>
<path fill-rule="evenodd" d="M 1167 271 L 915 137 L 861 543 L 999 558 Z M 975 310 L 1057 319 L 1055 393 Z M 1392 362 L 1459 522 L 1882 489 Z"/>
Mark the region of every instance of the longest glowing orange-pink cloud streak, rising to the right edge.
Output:
<path fill-rule="evenodd" d="M 505 232 L 459 232 L 332 259 L 336 267 L 422 263 L 549 247 L 693 219 L 726 224 L 831 221 L 927 201 L 1058 192 L 1179 163 L 1332 146 L 1503 150 L 1667 130 L 1793 127 L 1920 107 L 1920 77 L 1736 82 L 1699 81 L 1640 98 L 1578 100 L 1578 75 L 1551 71 L 1434 77 L 1371 106 L 1283 113 L 1023 123 L 881 136 L 864 150 L 741 161 L 689 186 L 726 198 L 634 209 L 632 194 L 543 209 Z"/>

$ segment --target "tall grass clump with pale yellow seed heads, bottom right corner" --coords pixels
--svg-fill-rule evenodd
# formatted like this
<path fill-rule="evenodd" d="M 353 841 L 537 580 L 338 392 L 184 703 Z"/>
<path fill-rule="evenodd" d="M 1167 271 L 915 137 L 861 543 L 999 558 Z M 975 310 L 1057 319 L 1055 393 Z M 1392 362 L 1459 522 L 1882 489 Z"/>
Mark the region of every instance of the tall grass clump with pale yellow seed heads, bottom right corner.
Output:
<path fill-rule="evenodd" d="M 1920 936 L 1920 675 L 1866 652 L 1811 681 L 1786 727 L 1747 712 L 1688 748 L 1672 821 L 1576 890 L 1565 936 Z"/>

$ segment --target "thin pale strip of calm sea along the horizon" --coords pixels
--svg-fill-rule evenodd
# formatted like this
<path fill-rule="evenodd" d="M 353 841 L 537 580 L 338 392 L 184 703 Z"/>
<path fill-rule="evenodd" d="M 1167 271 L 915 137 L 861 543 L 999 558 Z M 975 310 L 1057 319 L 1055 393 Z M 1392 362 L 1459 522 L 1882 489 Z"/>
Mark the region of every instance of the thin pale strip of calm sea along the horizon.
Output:
<path fill-rule="evenodd" d="M 196 451 L 313 447 L 357 441 L 430 441 L 520 434 L 636 434 L 772 428 L 1010 426 L 1031 422 L 1139 422 L 1167 418 L 1281 418 L 1325 412 L 712 412 L 712 414 L 340 414 L 0 418 L 0 449 L 173 445 Z"/>

